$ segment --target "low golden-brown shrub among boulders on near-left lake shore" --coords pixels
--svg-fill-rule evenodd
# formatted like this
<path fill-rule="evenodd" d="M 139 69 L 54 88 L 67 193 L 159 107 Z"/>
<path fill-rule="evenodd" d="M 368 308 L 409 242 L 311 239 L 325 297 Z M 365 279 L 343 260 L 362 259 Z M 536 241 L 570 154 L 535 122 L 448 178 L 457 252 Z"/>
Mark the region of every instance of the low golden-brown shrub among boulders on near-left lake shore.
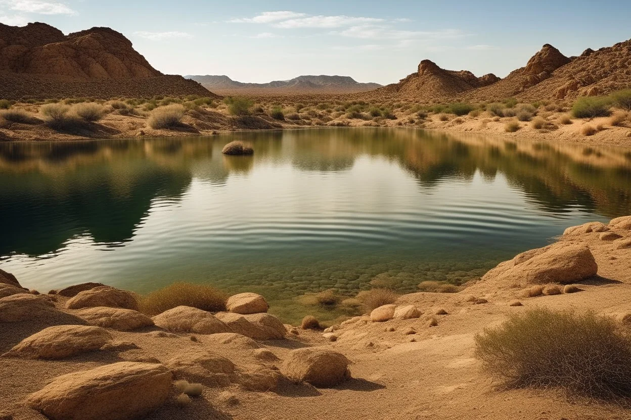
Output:
<path fill-rule="evenodd" d="M 228 295 L 220 290 L 186 281 L 178 281 L 155 292 L 138 297 L 138 307 L 143 314 L 153 316 L 180 305 L 219 312 L 226 310 Z"/>

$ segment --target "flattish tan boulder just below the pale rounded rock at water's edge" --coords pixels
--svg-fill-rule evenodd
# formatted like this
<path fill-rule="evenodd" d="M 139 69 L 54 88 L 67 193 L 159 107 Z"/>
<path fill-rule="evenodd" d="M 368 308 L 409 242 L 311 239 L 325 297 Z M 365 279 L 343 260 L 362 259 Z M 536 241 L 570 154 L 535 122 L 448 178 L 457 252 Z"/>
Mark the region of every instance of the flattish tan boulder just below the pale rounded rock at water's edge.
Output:
<path fill-rule="evenodd" d="M 230 331 L 256 340 L 281 339 L 287 332 L 278 318 L 265 313 L 241 315 L 219 312 L 216 316 L 225 322 Z"/>

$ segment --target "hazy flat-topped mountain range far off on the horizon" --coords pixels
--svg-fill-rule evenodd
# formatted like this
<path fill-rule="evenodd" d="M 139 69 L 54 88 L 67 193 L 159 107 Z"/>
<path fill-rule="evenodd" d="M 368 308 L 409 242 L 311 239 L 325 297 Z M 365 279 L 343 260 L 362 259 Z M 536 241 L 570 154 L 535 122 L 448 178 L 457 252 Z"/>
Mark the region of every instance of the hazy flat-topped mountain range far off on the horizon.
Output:
<path fill-rule="evenodd" d="M 237 82 L 228 76 L 184 76 L 219 94 L 357 93 L 381 88 L 379 83 L 360 83 L 349 76 L 298 76 L 269 83 Z"/>

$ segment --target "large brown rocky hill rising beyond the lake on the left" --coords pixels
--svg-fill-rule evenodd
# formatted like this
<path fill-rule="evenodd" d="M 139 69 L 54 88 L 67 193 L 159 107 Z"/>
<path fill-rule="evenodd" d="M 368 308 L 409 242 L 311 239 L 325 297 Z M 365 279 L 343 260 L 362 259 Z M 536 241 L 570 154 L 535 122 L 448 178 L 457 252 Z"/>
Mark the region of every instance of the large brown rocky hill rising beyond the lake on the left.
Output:
<path fill-rule="evenodd" d="M 110 28 L 64 35 L 45 23 L 0 23 L 0 77 L 5 81 L 0 97 L 9 99 L 209 95 L 198 83 L 151 67 L 131 41 Z"/>

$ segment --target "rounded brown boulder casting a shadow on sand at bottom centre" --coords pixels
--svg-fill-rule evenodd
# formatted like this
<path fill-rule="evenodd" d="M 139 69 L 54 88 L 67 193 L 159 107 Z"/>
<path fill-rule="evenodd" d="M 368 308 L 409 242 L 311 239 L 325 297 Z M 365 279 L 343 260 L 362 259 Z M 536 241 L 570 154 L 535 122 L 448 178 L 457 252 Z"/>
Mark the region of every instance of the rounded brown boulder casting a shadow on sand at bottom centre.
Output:
<path fill-rule="evenodd" d="M 281 373 L 295 382 L 326 388 L 350 378 L 348 365 L 350 361 L 337 351 L 307 347 L 292 350 Z"/>

